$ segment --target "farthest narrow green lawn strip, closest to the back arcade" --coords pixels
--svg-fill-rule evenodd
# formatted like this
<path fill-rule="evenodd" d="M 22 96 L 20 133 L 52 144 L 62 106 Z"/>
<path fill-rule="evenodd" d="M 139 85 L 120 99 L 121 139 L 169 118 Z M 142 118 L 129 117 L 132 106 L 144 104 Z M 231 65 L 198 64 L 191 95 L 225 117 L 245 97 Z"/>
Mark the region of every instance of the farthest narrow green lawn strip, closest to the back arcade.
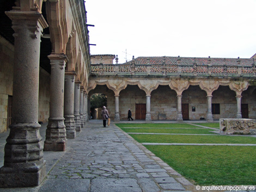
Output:
<path fill-rule="evenodd" d="M 115 123 L 120 128 L 145 127 L 145 128 L 198 128 L 199 126 L 187 123 Z M 200 128 L 200 127 L 199 127 Z"/>

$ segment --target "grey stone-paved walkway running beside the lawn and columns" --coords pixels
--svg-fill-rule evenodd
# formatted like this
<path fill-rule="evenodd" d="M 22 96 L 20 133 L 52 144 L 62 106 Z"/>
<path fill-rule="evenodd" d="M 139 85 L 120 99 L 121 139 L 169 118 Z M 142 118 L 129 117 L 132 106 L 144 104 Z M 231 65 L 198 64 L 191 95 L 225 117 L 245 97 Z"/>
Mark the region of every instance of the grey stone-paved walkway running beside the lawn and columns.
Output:
<path fill-rule="evenodd" d="M 154 156 L 127 133 L 111 124 L 91 120 L 67 141 L 65 152 L 44 152 L 47 178 L 34 188 L 0 189 L 0 191 L 186 191 L 194 185 Z M 45 137 L 46 124 L 40 132 Z M 2 137 L 1 137 L 2 135 Z M 4 136 L 5 135 L 5 136 Z M 0 134 L 0 159 L 7 133 Z"/>

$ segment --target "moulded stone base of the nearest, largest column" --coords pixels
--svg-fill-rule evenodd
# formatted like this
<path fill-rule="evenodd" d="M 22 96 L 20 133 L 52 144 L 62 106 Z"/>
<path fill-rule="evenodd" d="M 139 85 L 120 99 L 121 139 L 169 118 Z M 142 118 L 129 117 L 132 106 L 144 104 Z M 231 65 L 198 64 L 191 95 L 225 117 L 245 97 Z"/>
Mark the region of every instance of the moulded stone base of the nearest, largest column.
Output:
<path fill-rule="evenodd" d="M 38 186 L 46 176 L 40 127 L 38 123 L 10 125 L 4 166 L 0 168 L 1 188 Z"/>

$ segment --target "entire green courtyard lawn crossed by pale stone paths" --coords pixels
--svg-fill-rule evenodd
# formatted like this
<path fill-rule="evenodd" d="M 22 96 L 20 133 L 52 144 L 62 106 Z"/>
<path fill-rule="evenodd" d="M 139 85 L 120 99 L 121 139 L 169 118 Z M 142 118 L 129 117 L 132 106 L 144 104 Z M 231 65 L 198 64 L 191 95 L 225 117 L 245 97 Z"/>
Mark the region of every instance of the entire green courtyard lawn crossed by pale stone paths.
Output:
<path fill-rule="evenodd" d="M 193 125 L 117 123 L 116 125 L 123 131 L 132 133 L 130 135 L 139 143 L 256 144 L 255 137 L 223 136 L 213 133 L 212 131 L 218 128 L 218 123 Z M 256 184 L 256 146 L 145 145 L 145 147 L 196 184 Z"/>

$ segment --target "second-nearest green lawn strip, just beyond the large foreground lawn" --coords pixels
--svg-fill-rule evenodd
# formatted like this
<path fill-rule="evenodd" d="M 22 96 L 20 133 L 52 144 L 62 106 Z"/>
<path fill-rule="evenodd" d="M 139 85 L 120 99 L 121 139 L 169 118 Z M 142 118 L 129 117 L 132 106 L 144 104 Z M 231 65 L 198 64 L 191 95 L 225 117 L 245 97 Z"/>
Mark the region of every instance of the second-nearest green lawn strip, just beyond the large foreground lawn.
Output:
<path fill-rule="evenodd" d="M 130 135 L 139 143 L 256 144 L 256 138 L 254 137 L 222 135 Z"/>

